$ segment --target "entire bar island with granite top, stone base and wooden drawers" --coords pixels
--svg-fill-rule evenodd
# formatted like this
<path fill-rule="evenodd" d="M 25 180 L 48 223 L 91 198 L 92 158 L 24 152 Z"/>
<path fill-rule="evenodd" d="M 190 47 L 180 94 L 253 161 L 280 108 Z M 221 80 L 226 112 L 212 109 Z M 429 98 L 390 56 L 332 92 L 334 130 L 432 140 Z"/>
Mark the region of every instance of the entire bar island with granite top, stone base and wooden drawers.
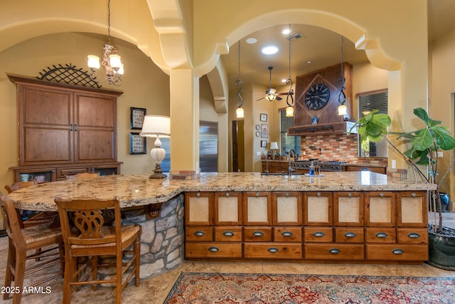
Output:
<path fill-rule="evenodd" d="M 30 188 L 9 194 L 16 208 L 56 211 L 57 196 L 119 196 L 124 222 L 142 225 L 143 278 L 183 258 L 422 263 L 428 257 L 432 185 L 374 172 L 202 173 L 164 181 L 131 174 Z"/>

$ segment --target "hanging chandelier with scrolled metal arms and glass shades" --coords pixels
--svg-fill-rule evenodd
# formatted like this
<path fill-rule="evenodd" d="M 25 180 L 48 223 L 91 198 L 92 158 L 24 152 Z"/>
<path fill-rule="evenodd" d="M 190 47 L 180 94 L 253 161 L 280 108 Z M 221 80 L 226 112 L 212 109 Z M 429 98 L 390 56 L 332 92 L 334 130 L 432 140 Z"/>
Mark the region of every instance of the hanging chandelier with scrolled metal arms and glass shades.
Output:
<path fill-rule="evenodd" d="M 88 67 L 92 71 L 90 78 L 97 83 L 106 81 L 109 85 L 122 85 L 123 64 L 120 60 L 119 51 L 111 44 L 111 1 L 107 1 L 107 42 L 103 47 L 102 65 L 105 67 L 106 76 L 99 78 L 97 70 L 100 68 L 100 58 L 95 55 L 89 55 Z"/>

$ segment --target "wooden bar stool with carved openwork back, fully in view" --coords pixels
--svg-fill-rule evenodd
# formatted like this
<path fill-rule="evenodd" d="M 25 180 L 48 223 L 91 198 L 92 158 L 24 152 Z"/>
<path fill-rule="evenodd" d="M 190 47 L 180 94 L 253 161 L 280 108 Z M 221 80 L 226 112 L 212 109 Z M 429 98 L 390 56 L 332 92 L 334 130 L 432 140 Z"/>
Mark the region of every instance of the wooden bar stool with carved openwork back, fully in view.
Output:
<path fill-rule="evenodd" d="M 92 285 L 97 290 L 97 284 L 114 283 L 116 303 L 121 303 L 122 289 L 135 277 L 135 285 L 139 285 L 140 268 L 140 239 L 141 226 L 122 226 L 120 219 L 119 199 L 61 199 L 56 198 L 60 214 L 63 239 L 65 241 L 65 279 L 63 283 L 63 303 L 71 302 L 71 294 L 80 285 Z M 102 211 L 114 209 L 115 224 L 107 226 L 104 223 Z M 73 214 L 74 226 L 70 226 L 70 214 Z M 130 250 L 129 247 L 133 249 Z M 98 268 L 109 266 L 100 264 L 100 256 L 115 256 L 116 276 L 113 279 L 99 279 Z M 131 256 L 127 263 L 122 261 L 124 256 Z M 86 257 L 84 263 L 78 258 Z M 81 263 L 78 263 L 81 262 Z M 91 266 L 90 273 L 83 276 L 85 269 Z M 127 273 L 129 271 L 129 273 Z M 122 283 L 122 276 L 127 278 Z"/>

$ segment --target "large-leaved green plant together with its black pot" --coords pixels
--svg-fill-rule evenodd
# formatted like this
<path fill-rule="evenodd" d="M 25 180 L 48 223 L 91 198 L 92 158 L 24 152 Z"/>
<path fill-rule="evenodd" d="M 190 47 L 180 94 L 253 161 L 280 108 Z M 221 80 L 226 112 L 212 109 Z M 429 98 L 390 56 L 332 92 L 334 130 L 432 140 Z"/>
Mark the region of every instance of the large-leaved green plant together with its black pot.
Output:
<path fill-rule="evenodd" d="M 439 186 L 454 166 L 455 159 L 452 159 L 440 179 L 438 174 L 438 152 L 454 149 L 455 138 L 451 136 L 447 127 L 441 126 L 441 121 L 430 118 L 424 109 L 414 109 L 414 115 L 424 123 L 422 129 L 411 132 L 388 131 L 387 128 L 391 123 L 390 117 L 374 110 L 355 122 L 350 132 L 358 127 L 358 134 L 362 142 L 366 140 L 378 142 L 385 138 L 398 154 L 410 162 L 425 182 L 434 184 L 434 190 L 429 192 L 429 211 L 434 212 L 437 216 L 434 216 L 433 223 L 428 226 L 429 263 L 439 268 L 455 270 L 455 230 L 445 227 L 442 223 L 441 196 L 439 194 Z M 410 148 L 401 152 L 390 140 L 391 136 L 396 137 L 397 140 L 406 140 L 409 142 Z M 427 172 L 422 171 L 422 167 L 419 165 L 426 166 Z"/>

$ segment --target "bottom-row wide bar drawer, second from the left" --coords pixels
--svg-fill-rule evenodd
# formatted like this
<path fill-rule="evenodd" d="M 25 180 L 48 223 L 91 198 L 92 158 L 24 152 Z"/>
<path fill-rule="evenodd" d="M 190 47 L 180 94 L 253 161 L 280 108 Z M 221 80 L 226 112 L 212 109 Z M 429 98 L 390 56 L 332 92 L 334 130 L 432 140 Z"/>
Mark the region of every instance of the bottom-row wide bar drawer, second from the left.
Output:
<path fill-rule="evenodd" d="M 245 243 L 245 258 L 300 259 L 301 243 Z"/>

